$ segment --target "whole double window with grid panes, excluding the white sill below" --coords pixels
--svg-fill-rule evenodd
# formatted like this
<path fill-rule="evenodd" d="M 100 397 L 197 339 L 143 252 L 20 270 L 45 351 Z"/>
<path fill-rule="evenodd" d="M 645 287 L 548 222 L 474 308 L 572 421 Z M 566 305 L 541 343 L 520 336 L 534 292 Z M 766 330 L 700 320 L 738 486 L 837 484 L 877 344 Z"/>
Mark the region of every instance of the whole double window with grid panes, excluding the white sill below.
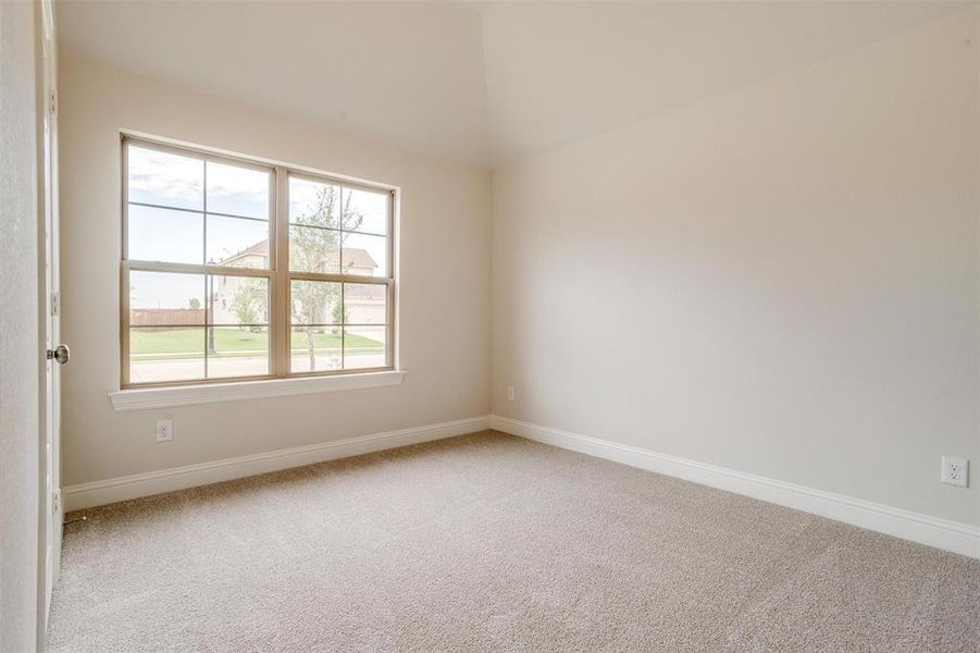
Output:
<path fill-rule="evenodd" d="M 389 370 L 394 193 L 123 138 L 122 385 Z"/>

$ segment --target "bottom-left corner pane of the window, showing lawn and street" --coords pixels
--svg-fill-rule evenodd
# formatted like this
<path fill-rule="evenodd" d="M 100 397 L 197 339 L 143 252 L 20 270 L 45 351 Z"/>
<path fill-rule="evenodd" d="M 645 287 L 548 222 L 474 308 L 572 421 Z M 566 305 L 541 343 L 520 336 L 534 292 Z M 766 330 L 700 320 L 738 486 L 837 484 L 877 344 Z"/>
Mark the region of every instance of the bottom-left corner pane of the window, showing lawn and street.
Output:
<path fill-rule="evenodd" d="M 204 329 L 129 329 L 129 383 L 204 378 Z"/>

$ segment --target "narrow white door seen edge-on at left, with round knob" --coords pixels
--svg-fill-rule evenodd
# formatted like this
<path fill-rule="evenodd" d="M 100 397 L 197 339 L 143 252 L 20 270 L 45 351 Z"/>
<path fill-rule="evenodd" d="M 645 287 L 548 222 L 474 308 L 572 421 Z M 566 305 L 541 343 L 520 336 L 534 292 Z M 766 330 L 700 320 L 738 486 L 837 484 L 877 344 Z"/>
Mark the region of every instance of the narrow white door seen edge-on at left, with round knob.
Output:
<path fill-rule="evenodd" d="M 44 473 L 45 497 L 41 538 L 44 553 L 44 615 L 45 626 L 51 607 L 51 589 L 61 563 L 61 409 L 60 409 L 60 364 L 67 362 L 67 347 L 60 342 L 59 322 L 61 296 L 58 284 L 58 86 L 54 21 L 51 0 L 41 0 L 41 77 L 44 90 L 44 139 L 41 144 L 41 200 L 45 212 L 45 295 L 47 319 L 45 320 L 45 342 L 48 350 L 45 392 Z"/>

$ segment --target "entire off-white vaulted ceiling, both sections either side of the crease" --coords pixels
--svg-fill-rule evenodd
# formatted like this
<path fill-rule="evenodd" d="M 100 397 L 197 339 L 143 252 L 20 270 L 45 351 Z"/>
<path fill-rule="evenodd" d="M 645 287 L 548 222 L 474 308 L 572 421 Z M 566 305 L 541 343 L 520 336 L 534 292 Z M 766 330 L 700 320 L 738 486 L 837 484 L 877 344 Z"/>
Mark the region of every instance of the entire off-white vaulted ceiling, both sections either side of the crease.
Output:
<path fill-rule="evenodd" d="M 971 5 L 62 0 L 58 27 L 72 54 L 491 167 Z"/>

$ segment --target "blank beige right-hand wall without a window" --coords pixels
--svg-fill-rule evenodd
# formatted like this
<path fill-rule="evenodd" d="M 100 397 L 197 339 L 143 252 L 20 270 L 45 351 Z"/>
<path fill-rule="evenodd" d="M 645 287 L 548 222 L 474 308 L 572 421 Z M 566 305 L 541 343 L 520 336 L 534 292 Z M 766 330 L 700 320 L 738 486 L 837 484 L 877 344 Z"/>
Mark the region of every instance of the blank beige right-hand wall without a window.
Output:
<path fill-rule="evenodd" d="M 496 172 L 494 411 L 980 523 L 976 16 Z"/>

